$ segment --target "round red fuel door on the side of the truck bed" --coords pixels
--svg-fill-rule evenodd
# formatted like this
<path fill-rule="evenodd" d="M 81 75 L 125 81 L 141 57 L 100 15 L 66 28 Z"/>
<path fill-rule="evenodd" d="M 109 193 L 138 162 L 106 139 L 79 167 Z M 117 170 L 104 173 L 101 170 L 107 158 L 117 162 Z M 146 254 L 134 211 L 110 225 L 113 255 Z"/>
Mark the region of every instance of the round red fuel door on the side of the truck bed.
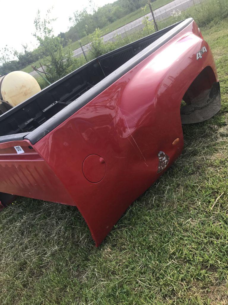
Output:
<path fill-rule="evenodd" d="M 88 181 L 100 182 L 106 172 L 105 160 L 98 155 L 89 155 L 82 164 L 82 171 Z"/>

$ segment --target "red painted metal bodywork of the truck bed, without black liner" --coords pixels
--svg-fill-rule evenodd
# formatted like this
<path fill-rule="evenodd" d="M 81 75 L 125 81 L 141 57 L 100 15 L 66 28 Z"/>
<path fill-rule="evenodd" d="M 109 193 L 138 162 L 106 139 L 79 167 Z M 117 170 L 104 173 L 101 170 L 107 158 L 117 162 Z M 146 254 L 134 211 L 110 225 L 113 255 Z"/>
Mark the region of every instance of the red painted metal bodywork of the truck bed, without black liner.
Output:
<path fill-rule="evenodd" d="M 181 99 L 206 66 L 217 79 L 193 22 L 35 145 L 16 144 L 25 154 L 0 145 L 0 191 L 77 206 L 98 246 L 181 154 Z M 164 170 L 158 155 L 168 160 Z"/>

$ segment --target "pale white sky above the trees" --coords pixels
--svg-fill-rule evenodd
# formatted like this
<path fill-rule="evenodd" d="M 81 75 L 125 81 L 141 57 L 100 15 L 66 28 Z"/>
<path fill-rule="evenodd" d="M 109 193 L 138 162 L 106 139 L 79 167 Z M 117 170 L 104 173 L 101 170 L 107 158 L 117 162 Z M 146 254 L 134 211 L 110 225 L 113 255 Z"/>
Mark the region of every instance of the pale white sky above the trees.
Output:
<path fill-rule="evenodd" d="M 53 6 L 52 18 L 57 18 L 53 24 L 54 34 L 65 32 L 71 26 L 69 17 L 74 11 L 88 6 L 88 0 L 0 0 L 1 2 L 1 27 L 0 48 L 8 45 L 21 51 L 21 45 L 27 44 L 32 50 L 36 47 L 36 39 L 32 36 L 35 32 L 33 21 L 37 10 L 45 16 L 47 10 Z M 102 6 L 114 0 L 94 0 L 95 5 Z"/>

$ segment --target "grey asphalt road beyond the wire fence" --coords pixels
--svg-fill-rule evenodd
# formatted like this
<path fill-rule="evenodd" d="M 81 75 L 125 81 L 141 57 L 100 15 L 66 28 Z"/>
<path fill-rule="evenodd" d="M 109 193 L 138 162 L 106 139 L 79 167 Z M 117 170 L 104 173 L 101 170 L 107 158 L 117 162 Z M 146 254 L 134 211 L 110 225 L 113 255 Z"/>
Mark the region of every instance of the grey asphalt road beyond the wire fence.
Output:
<path fill-rule="evenodd" d="M 183 11 L 194 4 L 198 4 L 199 2 L 202 2 L 202 0 L 174 0 L 162 7 L 160 7 L 159 9 L 154 10 L 155 20 L 165 19 L 165 18 L 171 16 L 171 13 L 174 10 L 176 11 L 178 9 L 180 11 Z M 151 13 L 147 14 L 146 16 L 149 17 L 149 20 L 153 19 Z M 144 16 L 140 17 L 130 23 L 125 24 L 123 27 L 119 27 L 117 30 L 114 30 L 108 34 L 105 34 L 102 37 L 103 40 L 112 41 L 116 35 L 124 36 L 126 33 L 130 34 L 131 32 L 142 29 L 143 28 L 143 23 L 142 23 L 143 18 L 144 18 Z M 89 47 L 89 44 L 83 46 L 83 50 L 85 53 L 88 51 L 88 47 Z M 73 51 L 74 57 L 81 56 L 82 54 L 83 53 L 82 53 L 81 48 L 78 48 Z M 38 75 L 36 71 L 30 72 L 30 74 L 34 77 L 37 77 L 37 75 Z"/>

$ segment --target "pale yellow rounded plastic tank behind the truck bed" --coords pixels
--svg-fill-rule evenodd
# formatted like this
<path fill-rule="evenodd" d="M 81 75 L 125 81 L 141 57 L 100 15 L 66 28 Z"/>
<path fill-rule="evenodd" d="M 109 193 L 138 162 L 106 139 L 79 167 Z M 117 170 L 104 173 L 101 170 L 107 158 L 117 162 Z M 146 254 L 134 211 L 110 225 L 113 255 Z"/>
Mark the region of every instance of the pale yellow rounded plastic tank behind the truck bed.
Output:
<path fill-rule="evenodd" d="M 0 84 L 2 100 L 8 102 L 12 107 L 24 102 L 41 90 L 36 79 L 23 71 L 13 71 L 0 77 Z"/>

